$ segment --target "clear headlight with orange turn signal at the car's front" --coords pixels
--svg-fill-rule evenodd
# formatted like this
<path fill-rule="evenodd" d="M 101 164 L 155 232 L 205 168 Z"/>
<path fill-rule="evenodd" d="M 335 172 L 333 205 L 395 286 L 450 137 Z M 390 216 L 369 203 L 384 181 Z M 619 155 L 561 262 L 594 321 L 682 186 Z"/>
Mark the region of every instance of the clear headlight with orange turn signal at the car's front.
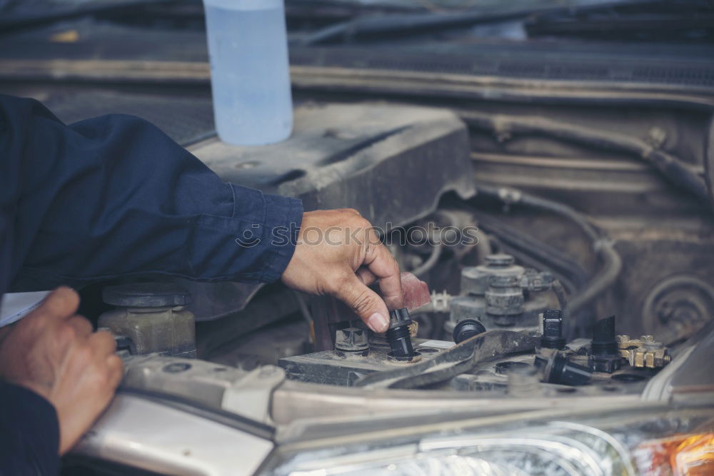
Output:
<path fill-rule="evenodd" d="M 541 414 L 542 417 L 542 414 Z M 714 475 L 714 407 L 618 410 L 295 452 L 277 475 Z M 505 427 L 504 427 L 505 426 Z M 358 449 L 359 448 L 359 449 Z"/>

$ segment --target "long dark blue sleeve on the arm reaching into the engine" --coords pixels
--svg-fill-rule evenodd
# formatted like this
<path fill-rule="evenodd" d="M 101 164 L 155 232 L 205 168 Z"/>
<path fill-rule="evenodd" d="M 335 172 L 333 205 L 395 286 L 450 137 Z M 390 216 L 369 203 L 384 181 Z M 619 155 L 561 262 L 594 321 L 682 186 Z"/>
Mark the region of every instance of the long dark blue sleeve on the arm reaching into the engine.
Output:
<path fill-rule="evenodd" d="M 11 162 L 0 186 L 15 191 L 0 192 L 14 208 L 15 282 L 137 273 L 270 282 L 292 256 L 300 201 L 223 183 L 140 118 L 66 126 L 37 101 L 0 96 L 0 151 Z"/>

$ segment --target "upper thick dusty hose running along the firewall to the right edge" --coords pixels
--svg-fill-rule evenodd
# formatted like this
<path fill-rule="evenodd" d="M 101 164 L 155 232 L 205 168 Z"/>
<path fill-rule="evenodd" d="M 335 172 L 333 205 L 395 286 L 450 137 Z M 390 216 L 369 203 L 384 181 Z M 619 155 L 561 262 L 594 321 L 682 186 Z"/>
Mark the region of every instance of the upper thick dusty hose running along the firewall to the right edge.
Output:
<path fill-rule="evenodd" d="M 498 136 L 507 137 L 511 133 L 544 133 L 588 146 L 632 153 L 633 156 L 660 171 L 670 183 L 688 191 L 698 200 L 706 203 L 708 208 L 711 206 L 706 184 L 698 173 L 687 163 L 639 138 L 537 116 L 504 116 L 474 112 L 463 112 L 460 116 L 469 126 L 493 131 Z"/>

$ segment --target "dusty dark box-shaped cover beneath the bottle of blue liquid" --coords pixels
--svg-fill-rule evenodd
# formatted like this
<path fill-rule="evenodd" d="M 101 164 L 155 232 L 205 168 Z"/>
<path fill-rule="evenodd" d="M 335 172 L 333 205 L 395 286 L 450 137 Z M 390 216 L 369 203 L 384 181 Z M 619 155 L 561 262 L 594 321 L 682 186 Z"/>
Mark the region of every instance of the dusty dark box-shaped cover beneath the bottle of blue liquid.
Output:
<path fill-rule="evenodd" d="M 443 109 L 308 103 L 287 141 L 211 138 L 189 150 L 224 181 L 301 198 L 306 210 L 356 208 L 375 226 L 421 218 L 447 191 L 474 193 L 466 126 Z"/>

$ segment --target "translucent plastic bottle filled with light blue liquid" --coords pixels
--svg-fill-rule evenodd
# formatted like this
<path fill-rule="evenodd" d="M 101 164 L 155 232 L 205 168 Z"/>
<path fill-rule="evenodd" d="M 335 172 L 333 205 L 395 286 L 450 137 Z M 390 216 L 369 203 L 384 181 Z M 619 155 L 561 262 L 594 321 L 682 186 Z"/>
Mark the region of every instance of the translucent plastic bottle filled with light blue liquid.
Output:
<path fill-rule="evenodd" d="M 293 129 L 283 0 L 204 0 L 216 129 L 261 145 Z"/>

